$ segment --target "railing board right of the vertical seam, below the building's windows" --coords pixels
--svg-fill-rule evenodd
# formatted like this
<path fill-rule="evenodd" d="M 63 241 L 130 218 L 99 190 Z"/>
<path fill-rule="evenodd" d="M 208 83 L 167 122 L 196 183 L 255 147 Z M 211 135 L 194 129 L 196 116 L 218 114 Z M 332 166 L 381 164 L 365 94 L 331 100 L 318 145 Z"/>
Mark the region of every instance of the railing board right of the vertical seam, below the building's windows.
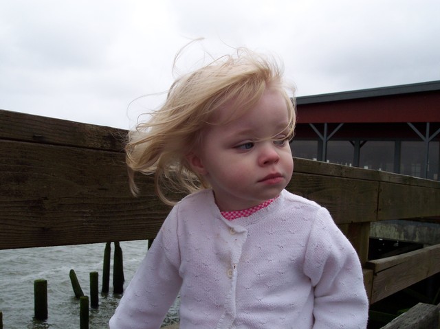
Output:
<path fill-rule="evenodd" d="M 440 182 L 430 188 L 418 185 L 380 182 L 378 220 L 438 216 Z M 435 184 L 434 184 L 435 183 Z"/>

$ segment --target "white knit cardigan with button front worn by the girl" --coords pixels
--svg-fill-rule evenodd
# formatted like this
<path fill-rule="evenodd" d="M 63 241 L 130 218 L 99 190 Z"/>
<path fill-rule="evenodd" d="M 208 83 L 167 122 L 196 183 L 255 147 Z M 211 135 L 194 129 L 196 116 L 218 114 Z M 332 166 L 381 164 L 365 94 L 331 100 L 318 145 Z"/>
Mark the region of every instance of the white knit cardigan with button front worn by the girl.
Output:
<path fill-rule="evenodd" d="M 166 218 L 110 328 L 157 329 L 180 291 L 180 329 L 366 328 L 362 269 L 329 212 L 283 190 L 225 220 L 211 190 Z"/>

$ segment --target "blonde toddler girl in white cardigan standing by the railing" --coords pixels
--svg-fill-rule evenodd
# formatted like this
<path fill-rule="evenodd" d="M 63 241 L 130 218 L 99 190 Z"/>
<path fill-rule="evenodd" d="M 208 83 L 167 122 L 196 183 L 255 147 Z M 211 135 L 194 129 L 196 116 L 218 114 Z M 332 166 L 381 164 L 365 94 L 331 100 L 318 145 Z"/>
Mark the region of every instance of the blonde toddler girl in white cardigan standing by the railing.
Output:
<path fill-rule="evenodd" d="M 327 209 L 285 190 L 295 109 L 281 69 L 240 49 L 175 81 L 131 133 L 131 172 L 175 204 L 111 318 L 181 329 L 366 328 L 360 261 Z M 169 195 L 169 193 L 168 193 Z"/>

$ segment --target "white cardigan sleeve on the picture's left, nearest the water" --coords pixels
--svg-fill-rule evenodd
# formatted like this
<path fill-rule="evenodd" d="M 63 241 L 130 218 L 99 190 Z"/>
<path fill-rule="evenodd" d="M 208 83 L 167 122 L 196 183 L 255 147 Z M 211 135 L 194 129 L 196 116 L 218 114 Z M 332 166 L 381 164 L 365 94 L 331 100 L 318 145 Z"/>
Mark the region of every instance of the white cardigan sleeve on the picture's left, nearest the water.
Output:
<path fill-rule="evenodd" d="M 110 329 L 158 329 L 181 286 L 177 219 L 171 212 L 124 292 Z"/>

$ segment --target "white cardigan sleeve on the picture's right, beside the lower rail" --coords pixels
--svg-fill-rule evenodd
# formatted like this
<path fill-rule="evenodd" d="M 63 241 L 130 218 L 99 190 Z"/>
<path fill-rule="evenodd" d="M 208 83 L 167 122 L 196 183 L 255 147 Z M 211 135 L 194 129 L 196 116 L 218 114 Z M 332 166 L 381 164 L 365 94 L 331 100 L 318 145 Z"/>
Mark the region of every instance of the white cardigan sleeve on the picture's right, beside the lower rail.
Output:
<path fill-rule="evenodd" d="M 358 254 L 323 207 L 307 243 L 305 274 L 314 286 L 314 329 L 366 328 L 369 302 Z"/>

